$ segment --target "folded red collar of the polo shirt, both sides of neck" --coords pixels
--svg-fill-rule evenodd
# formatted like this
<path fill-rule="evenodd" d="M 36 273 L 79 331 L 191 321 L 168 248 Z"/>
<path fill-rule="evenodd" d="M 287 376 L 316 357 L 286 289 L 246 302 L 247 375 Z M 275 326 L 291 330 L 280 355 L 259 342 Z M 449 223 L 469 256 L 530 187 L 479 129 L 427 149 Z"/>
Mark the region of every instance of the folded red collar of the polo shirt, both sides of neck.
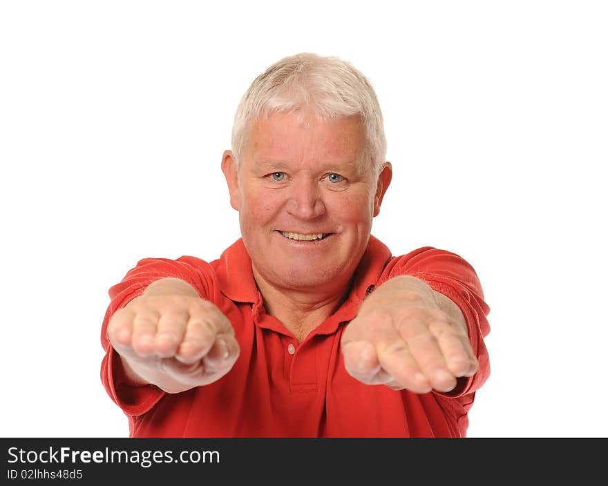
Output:
<path fill-rule="evenodd" d="M 374 289 L 390 257 L 387 246 L 370 235 L 368 246 L 354 273 L 351 298 L 362 301 L 366 293 Z M 252 304 L 261 301 L 260 291 L 251 271 L 251 257 L 247 253 L 243 238 L 236 240 L 222 253 L 217 275 L 222 293 L 230 300 Z"/>

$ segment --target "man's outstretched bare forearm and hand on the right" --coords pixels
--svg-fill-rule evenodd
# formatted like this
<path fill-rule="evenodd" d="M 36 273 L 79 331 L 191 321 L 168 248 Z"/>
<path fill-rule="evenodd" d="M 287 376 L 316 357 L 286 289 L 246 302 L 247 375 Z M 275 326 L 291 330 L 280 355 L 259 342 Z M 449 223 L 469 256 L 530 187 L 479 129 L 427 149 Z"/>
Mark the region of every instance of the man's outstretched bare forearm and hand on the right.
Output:
<path fill-rule="evenodd" d="M 348 372 L 369 385 L 448 392 L 479 364 L 464 315 L 423 280 L 400 275 L 365 298 L 342 337 Z"/>

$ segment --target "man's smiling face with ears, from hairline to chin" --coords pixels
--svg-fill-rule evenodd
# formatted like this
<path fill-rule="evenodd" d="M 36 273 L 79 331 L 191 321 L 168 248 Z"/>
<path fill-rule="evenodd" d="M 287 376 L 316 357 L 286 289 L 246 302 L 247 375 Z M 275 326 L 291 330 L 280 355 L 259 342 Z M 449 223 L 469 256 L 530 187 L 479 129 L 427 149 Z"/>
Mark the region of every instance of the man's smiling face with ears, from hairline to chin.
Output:
<path fill-rule="evenodd" d="M 345 290 L 390 183 L 361 168 L 361 118 L 274 113 L 249 126 L 235 167 L 222 160 L 254 275 L 276 289 Z"/>

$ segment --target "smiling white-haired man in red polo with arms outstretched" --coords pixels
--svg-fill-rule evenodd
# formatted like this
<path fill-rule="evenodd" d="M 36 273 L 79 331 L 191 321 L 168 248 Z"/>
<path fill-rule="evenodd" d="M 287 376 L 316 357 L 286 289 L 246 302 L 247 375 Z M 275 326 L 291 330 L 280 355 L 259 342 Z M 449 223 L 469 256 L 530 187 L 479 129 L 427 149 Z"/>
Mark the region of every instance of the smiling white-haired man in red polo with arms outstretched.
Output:
<path fill-rule="evenodd" d="M 458 255 L 370 235 L 385 154 L 350 64 L 301 54 L 254 80 L 222 158 L 242 238 L 110 289 L 102 381 L 131 436 L 466 435 L 489 309 Z"/>

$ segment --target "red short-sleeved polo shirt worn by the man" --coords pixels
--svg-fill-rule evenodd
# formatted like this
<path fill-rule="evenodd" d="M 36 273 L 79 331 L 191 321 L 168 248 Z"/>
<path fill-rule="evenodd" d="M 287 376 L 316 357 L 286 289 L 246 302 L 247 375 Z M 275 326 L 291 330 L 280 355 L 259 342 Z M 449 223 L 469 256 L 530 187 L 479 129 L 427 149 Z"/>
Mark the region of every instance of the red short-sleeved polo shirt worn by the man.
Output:
<path fill-rule="evenodd" d="M 366 291 L 405 274 L 451 298 L 466 318 L 479 371 L 460 379 L 450 393 L 364 385 L 345 370 L 340 338 Z M 226 376 L 175 394 L 155 385 L 125 385 L 119 356 L 106 336 L 113 311 L 165 277 L 189 282 L 216 304 L 240 344 L 240 356 Z M 140 260 L 109 295 L 101 376 L 112 400 L 129 417 L 131 437 L 462 437 L 475 391 L 490 371 L 483 341 L 489 308 L 477 275 L 458 255 L 430 247 L 393 257 L 370 237 L 348 299 L 301 343 L 265 312 L 240 239 L 211 263 L 190 256 Z"/>

